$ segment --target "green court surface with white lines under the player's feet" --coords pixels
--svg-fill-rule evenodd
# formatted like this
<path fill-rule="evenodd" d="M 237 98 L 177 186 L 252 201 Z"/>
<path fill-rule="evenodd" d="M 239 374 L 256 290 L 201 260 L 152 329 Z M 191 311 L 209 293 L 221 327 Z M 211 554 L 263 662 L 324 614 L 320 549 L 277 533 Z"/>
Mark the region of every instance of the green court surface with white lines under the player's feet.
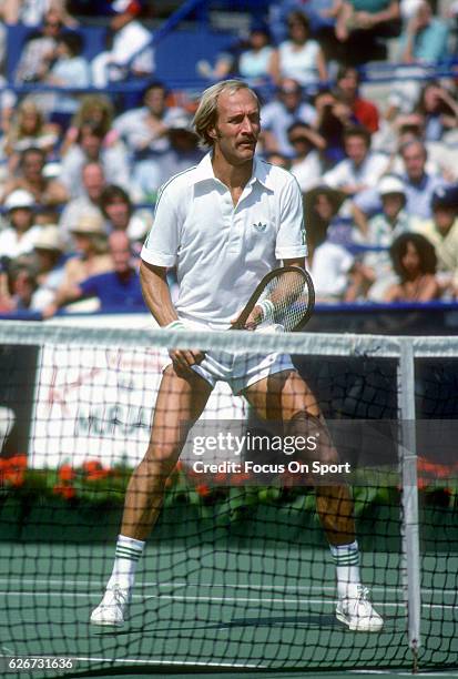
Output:
<path fill-rule="evenodd" d="M 325 549 L 255 544 L 149 545 L 130 621 L 120 630 L 91 627 L 112 555 L 112 543 L 1 543 L 1 653 L 73 658 L 65 676 L 362 677 L 411 669 L 398 554 L 364 554 L 364 580 L 385 618 L 378 634 L 350 632 L 335 619 Z M 419 668 L 428 676 L 458 676 L 457 572 L 456 554 L 424 557 Z M 33 673 L 40 676 L 58 675 Z"/>

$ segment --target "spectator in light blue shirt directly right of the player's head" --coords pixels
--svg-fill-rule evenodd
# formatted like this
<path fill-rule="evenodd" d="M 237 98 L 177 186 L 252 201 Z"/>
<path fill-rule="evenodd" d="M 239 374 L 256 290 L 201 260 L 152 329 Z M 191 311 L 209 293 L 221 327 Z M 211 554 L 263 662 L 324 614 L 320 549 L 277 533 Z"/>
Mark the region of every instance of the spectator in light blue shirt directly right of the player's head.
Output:
<path fill-rule="evenodd" d="M 279 152 L 292 158 L 294 149 L 288 142 L 288 128 L 294 122 L 313 124 L 315 118 L 315 109 L 302 101 L 302 90 L 297 82 L 291 78 L 283 79 L 276 100 L 261 109 L 264 153 Z"/>

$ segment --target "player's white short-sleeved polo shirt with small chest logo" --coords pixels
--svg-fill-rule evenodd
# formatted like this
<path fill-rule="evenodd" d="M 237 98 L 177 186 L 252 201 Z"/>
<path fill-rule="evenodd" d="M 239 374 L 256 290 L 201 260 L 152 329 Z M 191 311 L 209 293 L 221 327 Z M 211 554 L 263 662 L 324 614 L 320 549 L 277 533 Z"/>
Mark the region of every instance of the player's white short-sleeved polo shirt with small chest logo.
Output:
<path fill-rule="evenodd" d="M 180 318 L 220 330 L 281 260 L 306 254 L 302 194 L 293 175 L 256 158 L 234 206 L 208 153 L 162 188 L 141 256 L 155 266 L 176 266 Z"/>

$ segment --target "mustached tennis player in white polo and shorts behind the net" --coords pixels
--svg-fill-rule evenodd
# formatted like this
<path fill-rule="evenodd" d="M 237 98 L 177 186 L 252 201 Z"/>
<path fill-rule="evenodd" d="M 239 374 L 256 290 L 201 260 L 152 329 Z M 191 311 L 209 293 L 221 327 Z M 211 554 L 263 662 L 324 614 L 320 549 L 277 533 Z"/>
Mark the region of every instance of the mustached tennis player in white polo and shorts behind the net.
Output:
<path fill-rule="evenodd" d="M 255 156 L 259 102 L 243 82 L 227 80 L 205 90 L 194 125 L 210 152 L 162 188 L 142 250 L 141 280 L 162 327 L 223 330 L 281 261 L 305 265 L 303 203 L 292 174 Z M 175 305 L 166 282 L 171 266 L 176 266 L 180 286 Z M 126 619 L 135 569 L 160 513 L 165 479 L 185 443 L 182 423 L 200 417 L 216 381 L 227 382 L 262 418 L 286 423 L 289 433 L 299 434 L 311 423 L 323 426 L 318 404 L 288 355 L 174 349 L 170 357 L 151 440 L 128 487 L 113 571 L 91 615 L 93 625 L 121 626 Z M 323 462 L 337 459 L 333 446 L 323 455 Z M 349 490 L 317 486 L 316 503 L 336 564 L 336 616 L 353 630 L 377 631 L 383 619 L 360 584 Z"/>

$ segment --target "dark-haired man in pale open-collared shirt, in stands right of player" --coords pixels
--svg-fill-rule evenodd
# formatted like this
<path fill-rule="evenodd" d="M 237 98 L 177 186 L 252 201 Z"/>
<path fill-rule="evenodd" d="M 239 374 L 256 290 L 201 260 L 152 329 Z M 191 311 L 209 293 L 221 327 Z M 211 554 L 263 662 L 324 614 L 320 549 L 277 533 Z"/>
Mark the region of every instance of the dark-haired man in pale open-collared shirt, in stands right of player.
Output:
<path fill-rule="evenodd" d="M 326 172 L 323 182 L 332 189 L 356 196 L 373 189 L 388 165 L 387 156 L 370 151 L 370 133 L 366 128 L 348 128 L 344 132 L 346 160 Z"/>

